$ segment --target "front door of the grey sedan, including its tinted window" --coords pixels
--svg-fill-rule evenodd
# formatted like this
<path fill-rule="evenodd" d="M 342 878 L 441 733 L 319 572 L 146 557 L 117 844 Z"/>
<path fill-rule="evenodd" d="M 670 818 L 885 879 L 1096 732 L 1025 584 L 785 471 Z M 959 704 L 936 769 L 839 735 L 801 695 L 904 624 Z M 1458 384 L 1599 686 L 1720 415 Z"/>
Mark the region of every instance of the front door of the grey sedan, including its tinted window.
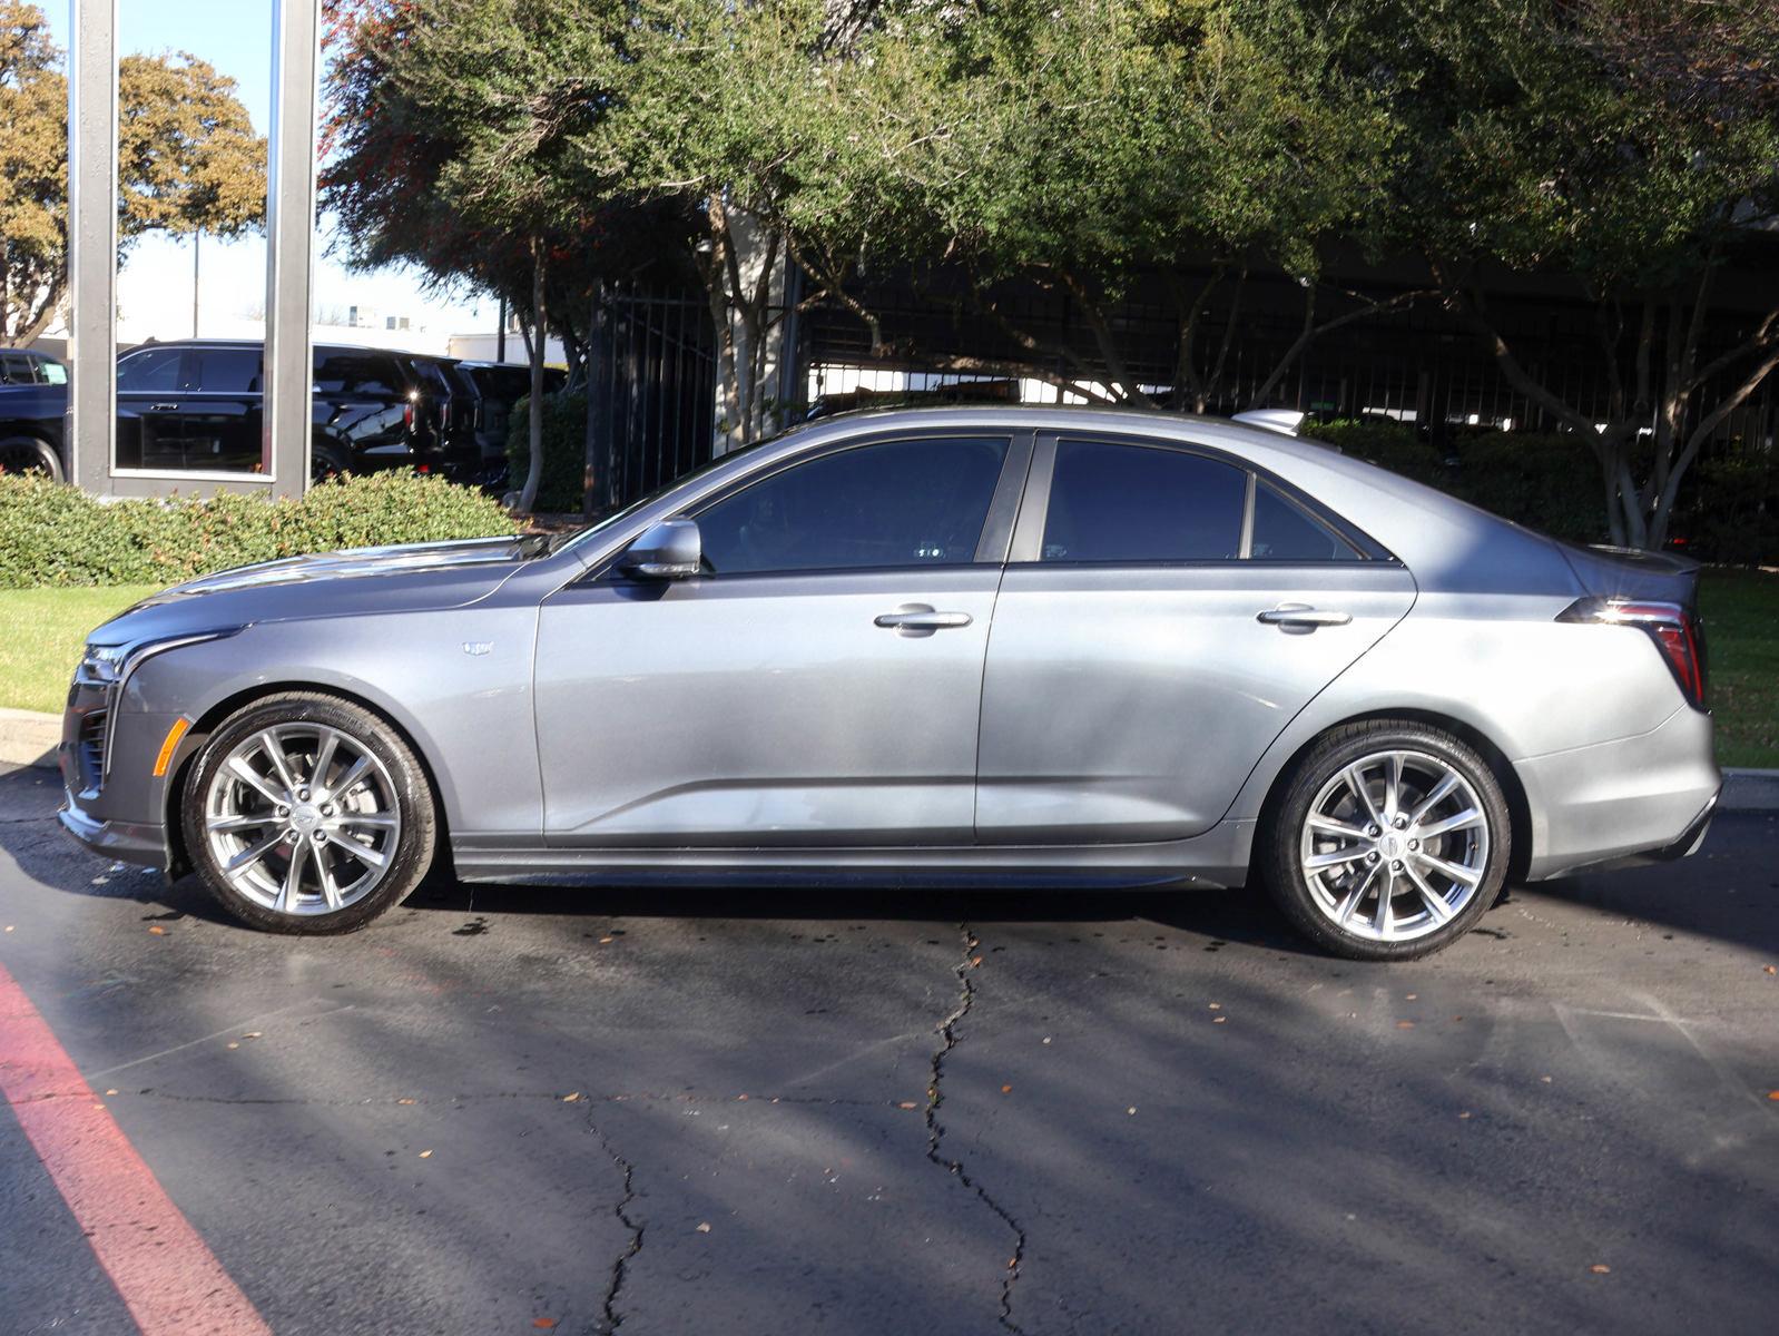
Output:
<path fill-rule="evenodd" d="M 537 635 L 562 847 L 964 845 L 989 621 L 1030 457 L 875 439 L 688 511 L 704 573 L 600 571 Z"/>

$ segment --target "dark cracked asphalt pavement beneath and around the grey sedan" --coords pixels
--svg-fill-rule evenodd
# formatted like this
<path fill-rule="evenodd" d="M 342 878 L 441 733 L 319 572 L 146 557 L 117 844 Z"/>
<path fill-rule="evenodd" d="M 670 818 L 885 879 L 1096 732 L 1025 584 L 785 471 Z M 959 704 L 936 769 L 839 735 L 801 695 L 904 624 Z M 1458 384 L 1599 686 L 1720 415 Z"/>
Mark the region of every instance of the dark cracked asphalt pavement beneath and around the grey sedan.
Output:
<path fill-rule="evenodd" d="M 1779 1311 L 1779 813 L 1357 966 L 1245 893 L 443 886 L 276 939 L 55 799 L 0 776 L 0 966 L 276 1332 Z M 0 1331 L 128 1331 L 20 1117 Z"/>

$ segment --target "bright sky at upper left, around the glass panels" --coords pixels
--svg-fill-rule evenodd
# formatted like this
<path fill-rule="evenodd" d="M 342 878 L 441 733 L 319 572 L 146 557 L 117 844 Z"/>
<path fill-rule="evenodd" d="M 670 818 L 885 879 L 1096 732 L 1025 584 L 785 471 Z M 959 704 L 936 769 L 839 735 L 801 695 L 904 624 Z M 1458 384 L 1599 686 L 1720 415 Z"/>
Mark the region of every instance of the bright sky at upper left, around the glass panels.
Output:
<path fill-rule="evenodd" d="M 69 46 L 68 0 L 37 0 L 57 44 Z M 125 53 L 190 52 L 238 82 L 238 96 L 262 135 L 272 121 L 272 0 L 117 0 L 117 46 Z M 315 310 L 327 322 L 349 306 L 379 317 L 407 317 L 416 350 L 445 350 L 450 334 L 486 333 L 496 324 L 491 297 L 429 295 L 404 269 L 349 272 L 329 247 L 329 219 L 317 229 Z M 242 334 L 265 306 L 265 238 L 206 237 L 199 253 L 199 333 Z M 119 338 L 139 342 L 192 333 L 190 238 L 142 237 L 117 274 Z"/>

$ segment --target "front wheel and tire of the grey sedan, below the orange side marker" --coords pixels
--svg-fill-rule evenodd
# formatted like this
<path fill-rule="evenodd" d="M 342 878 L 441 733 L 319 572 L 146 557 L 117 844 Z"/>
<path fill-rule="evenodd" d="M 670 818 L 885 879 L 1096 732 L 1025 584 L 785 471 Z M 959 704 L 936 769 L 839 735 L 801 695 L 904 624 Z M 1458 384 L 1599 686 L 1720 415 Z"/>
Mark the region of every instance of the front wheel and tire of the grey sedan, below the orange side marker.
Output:
<path fill-rule="evenodd" d="M 180 802 L 192 868 L 229 914 L 267 932 L 365 927 L 420 884 L 438 845 L 413 749 L 372 712 L 313 692 L 229 715 Z"/>

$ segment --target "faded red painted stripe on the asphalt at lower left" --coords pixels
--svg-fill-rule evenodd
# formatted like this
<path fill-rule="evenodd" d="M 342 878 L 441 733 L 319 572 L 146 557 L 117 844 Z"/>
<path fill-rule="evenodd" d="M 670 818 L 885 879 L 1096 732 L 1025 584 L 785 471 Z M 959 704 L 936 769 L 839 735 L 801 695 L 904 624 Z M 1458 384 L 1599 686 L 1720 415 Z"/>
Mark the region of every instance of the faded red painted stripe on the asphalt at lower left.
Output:
<path fill-rule="evenodd" d="M 4 966 L 0 1091 L 144 1336 L 270 1336 Z"/>

